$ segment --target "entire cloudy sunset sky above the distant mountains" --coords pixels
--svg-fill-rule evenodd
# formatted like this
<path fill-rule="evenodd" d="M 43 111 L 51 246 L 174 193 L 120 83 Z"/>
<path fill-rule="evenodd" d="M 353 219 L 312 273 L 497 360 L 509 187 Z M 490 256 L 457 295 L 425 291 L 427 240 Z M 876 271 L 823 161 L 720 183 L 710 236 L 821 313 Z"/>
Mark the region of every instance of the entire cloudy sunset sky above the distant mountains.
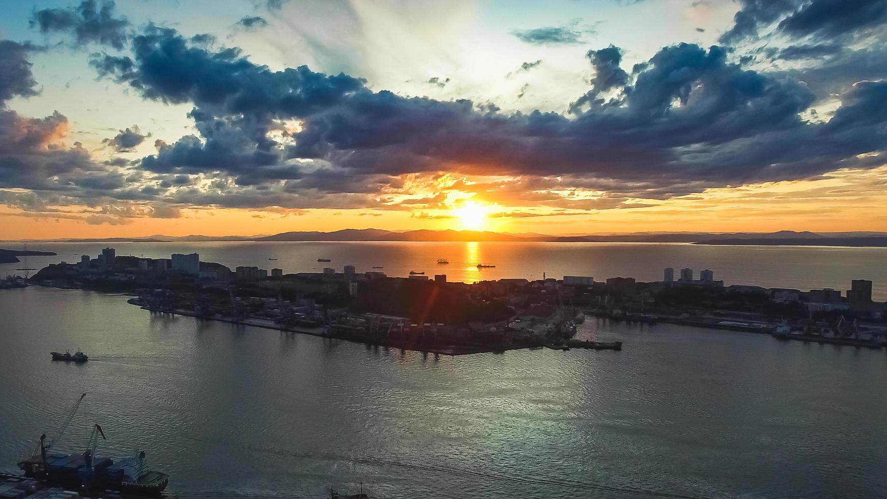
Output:
<path fill-rule="evenodd" d="M 45 0 L 0 239 L 887 230 L 887 0 Z"/>

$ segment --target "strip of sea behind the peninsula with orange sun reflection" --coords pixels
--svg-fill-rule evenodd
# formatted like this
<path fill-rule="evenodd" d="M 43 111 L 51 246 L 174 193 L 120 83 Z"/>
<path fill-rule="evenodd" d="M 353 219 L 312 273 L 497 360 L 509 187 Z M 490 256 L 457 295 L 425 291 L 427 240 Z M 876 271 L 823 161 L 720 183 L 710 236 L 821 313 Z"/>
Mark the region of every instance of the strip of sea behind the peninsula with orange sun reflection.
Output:
<path fill-rule="evenodd" d="M 58 256 L 28 257 L 19 264 L 0 265 L 0 276 L 13 269 L 41 268 L 57 261 L 80 261 L 81 253 L 93 258 L 108 246 L 97 243 L 31 243 L 30 249 L 53 251 Z M 169 258 L 170 253 L 200 253 L 201 261 L 216 261 L 231 269 L 256 265 L 285 272 L 318 272 L 323 267 L 354 264 L 358 272 L 381 266 L 389 276 L 406 276 L 411 270 L 428 275 L 444 273 L 451 281 L 475 282 L 503 277 L 540 279 L 592 276 L 636 277 L 661 280 L 663 269 L 712 269 L 726 285 L 789 287 L 804 291 L 831 287 L 850 288 L 852 279 L 874 282 L 875 300 L 887 300 L 887 248 L 809 246 L 701 246 L 637 243 L 436 243 L 436 242 L 211 242 L 113 243 L 117 254 Z M 21 244 L 0 243 L 20 249 Z M 276 258 L 270 261 L 269 258 Z M 329 263 L 319 263 L 328 258 Z M 449 265 L 438 265 L 447 258 Z M 496 265 L 477 269 L 477 264 Z"/>

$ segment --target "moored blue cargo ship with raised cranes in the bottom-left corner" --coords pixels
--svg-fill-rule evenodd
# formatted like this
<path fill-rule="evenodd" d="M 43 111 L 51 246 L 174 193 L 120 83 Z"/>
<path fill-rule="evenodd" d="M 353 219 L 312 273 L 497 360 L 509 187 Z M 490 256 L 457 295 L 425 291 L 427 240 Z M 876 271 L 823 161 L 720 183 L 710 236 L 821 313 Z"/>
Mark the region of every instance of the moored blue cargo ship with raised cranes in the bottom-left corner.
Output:
<path fill-rule="evenodd" d="M 116 462 L 95 455 L 98 437 L 106 439 L 105 431 L 99 425 L 93 425 L 90 441 L 82 453 L 49 454 L 48 451 L 65 433 L 85 396 L 86 394 L 80 396 L 59 434 L 47 443 L 46 434 L 43 433 L 34 455 L 19 463 L 25 476 L 46 482 L 52 487 L 81 487 L 81 490 L 87 492 L 110 489 L 140 495 L 160 494 L 169 485 L 169 475 L 149 470 L 144 451 L 137 457 L 125 457 Z"/>

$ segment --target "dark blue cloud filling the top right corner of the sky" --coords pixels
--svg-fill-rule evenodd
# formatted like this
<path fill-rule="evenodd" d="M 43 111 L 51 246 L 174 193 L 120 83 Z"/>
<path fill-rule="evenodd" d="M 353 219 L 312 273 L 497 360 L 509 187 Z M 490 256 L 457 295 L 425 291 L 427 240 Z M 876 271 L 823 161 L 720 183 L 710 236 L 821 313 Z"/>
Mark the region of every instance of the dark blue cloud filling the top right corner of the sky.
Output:
<path fill-rule="evenodd" d="M 734 26 L 721 43 L 736 43 L 759 35 L 759 29 L 779 23 L 789 36 L 830 39 L 853 35 L 887 22 L 887 0 L 740 0 Z"/>

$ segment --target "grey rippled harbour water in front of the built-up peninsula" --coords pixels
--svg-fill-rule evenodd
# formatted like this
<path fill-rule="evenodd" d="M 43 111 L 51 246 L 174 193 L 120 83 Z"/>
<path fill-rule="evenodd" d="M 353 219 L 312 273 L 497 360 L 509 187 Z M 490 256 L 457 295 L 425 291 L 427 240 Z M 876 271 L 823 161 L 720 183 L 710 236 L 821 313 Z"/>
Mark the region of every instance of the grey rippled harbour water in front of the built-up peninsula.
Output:
<path fill-rule="evenodd" d="M 589 319 L 624 351 L 436 358 L 125 300 L 0 291 L 0 470 L 87 392 L 60 447 L 98 422 L 184 496 L 887 496 L 883 351 Z"/>

